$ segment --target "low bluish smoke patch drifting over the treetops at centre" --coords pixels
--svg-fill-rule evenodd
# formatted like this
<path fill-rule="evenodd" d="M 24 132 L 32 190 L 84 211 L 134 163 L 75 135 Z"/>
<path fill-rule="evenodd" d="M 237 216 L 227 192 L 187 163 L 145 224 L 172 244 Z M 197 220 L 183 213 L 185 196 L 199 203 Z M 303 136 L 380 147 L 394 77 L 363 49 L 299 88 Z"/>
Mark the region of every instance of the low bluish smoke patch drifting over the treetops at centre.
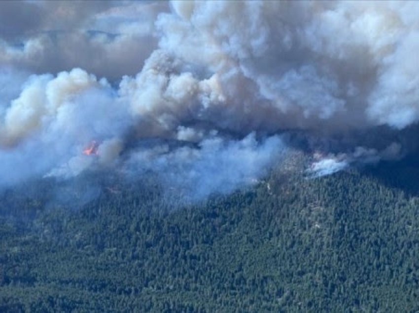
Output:
<path fill-rule="evenodd" d="M 256 141 L 253 133 L 230 141 L 214 136 L 201 141 L 199 149 L 183 146 L 171 150 L 167 144 L 140 149 L 131 156 L 128 170 L 140 168 L 143 175 L 157 170 L 166 188 L 194 200 L 257 183 L 283 156 L 284 149 L 278 136 L 262 142 Z"/>

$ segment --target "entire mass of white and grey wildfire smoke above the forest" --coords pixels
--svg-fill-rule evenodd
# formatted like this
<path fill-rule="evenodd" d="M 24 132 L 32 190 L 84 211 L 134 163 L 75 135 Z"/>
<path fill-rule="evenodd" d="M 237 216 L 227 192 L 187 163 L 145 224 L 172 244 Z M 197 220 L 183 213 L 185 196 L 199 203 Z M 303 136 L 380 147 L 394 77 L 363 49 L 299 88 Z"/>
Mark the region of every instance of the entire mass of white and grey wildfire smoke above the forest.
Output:
<path fill-rule="evenodd" d="M 29 9 L 36 19 L 17 13 Z M 1 184 L 118 168 L 206 196 L 263 175 L 286 149 L 280 133 L 327 141 L 419 119 L 414 1 L 41 1 L 0 12 L 15 15 L 0 22 Z M 400 157 L 408 148 L 392 141 L 324 151 L 312 171 Z"/>

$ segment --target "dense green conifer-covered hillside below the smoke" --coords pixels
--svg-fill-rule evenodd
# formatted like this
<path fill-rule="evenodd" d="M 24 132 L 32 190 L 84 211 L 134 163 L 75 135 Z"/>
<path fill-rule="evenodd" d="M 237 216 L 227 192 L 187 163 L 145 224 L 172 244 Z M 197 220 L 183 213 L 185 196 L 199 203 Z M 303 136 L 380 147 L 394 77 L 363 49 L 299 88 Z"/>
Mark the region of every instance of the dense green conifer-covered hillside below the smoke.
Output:
<path fill-rule="evenodd" d="M 273 171 L 176 207 L 150 185 L 104 189 L 80 208 L 46 205 L 47 183 L 8 190 L 0 311 L 415 312 L 418 178 L 385 165 Z"/>

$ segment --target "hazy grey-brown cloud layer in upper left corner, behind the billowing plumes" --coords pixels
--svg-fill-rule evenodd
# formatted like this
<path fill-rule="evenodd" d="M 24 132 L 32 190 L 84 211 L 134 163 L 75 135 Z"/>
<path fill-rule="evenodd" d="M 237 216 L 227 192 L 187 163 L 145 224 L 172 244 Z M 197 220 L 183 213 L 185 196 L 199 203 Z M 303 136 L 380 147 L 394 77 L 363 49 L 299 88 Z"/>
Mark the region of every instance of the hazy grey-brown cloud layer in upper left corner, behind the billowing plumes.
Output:
<path fill-rule="evenodd" d="M 35 73 L 82 67 L 134 75 L 157 48 L 154 20 L 167 2 L 3 1 L 0 65 Z"/>

